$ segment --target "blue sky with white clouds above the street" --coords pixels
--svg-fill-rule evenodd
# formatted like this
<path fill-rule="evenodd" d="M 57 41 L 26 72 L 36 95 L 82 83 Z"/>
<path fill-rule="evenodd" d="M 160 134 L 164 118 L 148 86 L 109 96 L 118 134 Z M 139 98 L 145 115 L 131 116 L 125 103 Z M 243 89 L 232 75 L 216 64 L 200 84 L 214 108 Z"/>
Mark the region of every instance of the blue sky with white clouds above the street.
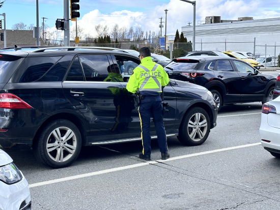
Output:
<path fill-rule="evenodd" d="M 81 25 L 86 32 L 94 33 L 94 25 L 107 24 L 109 27 L 118 23 L 120 26 L 142 26 L 144 31 L 158 31 L 159 17 L 167 13 L 167 34 L 174 34 L 178 28 L 192 22 L 192 6 L 179 0 L 80 0 Z M 24 22 L 36 24 L 36 0 L 6 0 L 0 13 L 6 13 L 6 26 Z M 252 16 L 254 19 L 280 17 L 280 2 L 276 0 L 197 0 L 197 20 L 205 16 L 217 15 L 221 19 L 237 19 Z M 39 0 L 39 24 L 42 17 L 53 27 L 55 19 L 63 18 L 63 0 Z"/>

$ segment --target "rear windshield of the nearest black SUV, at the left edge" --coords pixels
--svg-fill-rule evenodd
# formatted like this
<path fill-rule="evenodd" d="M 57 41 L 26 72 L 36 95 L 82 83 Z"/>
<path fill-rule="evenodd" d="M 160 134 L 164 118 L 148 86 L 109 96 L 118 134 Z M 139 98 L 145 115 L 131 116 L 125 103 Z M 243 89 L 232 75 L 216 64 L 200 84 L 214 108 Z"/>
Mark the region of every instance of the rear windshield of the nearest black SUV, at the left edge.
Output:
<path fill-rule="evenodd" d="M 0 83 L 7 83 L 24 57 L 0 55 Z"/>

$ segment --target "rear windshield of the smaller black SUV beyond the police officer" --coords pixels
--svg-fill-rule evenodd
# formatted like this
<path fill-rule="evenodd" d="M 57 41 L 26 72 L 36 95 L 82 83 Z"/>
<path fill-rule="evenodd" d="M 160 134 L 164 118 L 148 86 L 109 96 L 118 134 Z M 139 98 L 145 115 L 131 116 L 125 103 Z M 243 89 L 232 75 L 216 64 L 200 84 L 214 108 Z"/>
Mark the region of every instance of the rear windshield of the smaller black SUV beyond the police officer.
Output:
<path fill-rule="evenodd" d="M 198 64 L 198 60 L 177 58 L 174 59 L 173 62 L 167 64 L 164 69 L 174 71 L 191 70 L 194 69 Z"/>

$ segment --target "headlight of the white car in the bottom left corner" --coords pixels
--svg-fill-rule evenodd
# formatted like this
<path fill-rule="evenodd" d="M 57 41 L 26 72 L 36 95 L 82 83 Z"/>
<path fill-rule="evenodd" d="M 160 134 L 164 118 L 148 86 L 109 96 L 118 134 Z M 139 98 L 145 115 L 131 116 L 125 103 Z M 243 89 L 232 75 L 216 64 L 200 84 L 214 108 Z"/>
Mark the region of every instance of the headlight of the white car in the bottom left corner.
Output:
<path fill-rule="evenodd" d="M 11 185 L 19 182 L 22 175 L 14 163 L 0 167 L 0 181 Z"/>

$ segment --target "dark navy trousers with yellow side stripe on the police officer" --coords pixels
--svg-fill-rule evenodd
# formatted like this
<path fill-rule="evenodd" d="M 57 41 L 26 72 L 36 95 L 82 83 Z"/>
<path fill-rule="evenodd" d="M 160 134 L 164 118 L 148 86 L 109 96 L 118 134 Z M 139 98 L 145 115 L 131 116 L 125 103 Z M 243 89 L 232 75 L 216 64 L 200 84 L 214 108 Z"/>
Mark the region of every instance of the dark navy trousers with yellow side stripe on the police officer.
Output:
<path fill-rule="evenodd" d="M 160 96 L 146 96 L 138 108 L 142 129 L 143 155 L 151 155 L 150 118 L 153 117 L 157 141 L 161 153 L 168 151 L 166 133 L 163 125 L 162 103 Z"/>

